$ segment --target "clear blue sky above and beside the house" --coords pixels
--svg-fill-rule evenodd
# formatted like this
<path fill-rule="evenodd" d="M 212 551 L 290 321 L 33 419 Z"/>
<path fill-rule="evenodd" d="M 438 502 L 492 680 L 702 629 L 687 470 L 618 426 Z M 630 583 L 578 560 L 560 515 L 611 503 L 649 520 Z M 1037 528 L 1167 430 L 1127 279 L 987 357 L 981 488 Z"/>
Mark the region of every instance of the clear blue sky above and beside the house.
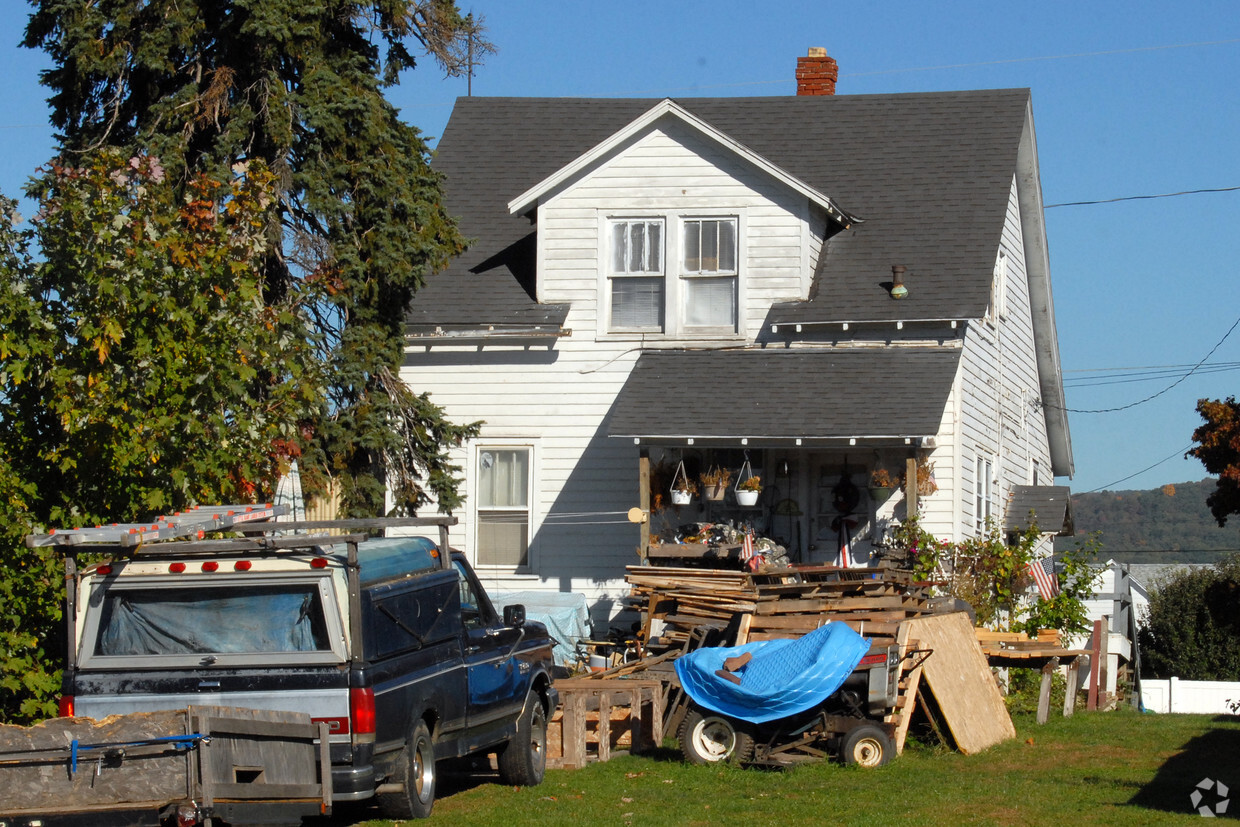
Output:
<path fill-rule="evenodd" d="M 1240 187 L 1233 0 L 460 2 L 498 47 L 474 77 L 479 95 L 792 94 L 796 58 L 823 46 L 839 94 L 1030 88 L 1047 205 Z M 17 46 L 26 9 L 0 0 L 10 196 L 52 150 L 37 84 L 47 62 Z M 389 97 L 433 143 L 465 93 L 428 60 Z M 1240 191 L 1053 207 L 1047 227 L 1068 405 L 1080 412 L 1073 490 L 1203 479 L 1183 459 L 1197 399 L 1236 394 L 1240 379 Z"/>

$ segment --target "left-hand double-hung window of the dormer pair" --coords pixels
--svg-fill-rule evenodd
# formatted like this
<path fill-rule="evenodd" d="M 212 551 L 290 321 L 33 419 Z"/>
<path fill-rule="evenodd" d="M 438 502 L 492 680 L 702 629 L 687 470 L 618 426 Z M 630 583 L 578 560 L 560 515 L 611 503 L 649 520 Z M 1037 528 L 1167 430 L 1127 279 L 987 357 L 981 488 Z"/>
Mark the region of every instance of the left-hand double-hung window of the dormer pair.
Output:
<path fill-rule="evenodd" d="M 614 331 L 662 331 L 666 285 L 663 279 L 663 221 L 613 221 L 611 320 Z"/>

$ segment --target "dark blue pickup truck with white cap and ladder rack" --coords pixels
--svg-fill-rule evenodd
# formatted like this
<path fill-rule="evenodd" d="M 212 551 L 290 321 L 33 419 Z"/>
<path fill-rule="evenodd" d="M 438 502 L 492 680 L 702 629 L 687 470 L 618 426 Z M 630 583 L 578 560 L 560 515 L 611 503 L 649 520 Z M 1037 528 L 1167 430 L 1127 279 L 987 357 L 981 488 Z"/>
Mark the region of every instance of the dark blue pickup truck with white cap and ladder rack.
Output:
<path fill-rule="evenodd" d="M 392 818 L 430 815 L 438 759 L 497 754 L 506 784 L 542 781 L 552 641 L 523 606 L 491 604 L 448 547 L 454 518 L 267 523 L 231 508 L 30 538 L 66 552 L 63 715 L 309 713 L 330 732 L 332 800 L 373 797 Z M 371 537 L 409 526 L 438 526 L 439 542 Z"/>

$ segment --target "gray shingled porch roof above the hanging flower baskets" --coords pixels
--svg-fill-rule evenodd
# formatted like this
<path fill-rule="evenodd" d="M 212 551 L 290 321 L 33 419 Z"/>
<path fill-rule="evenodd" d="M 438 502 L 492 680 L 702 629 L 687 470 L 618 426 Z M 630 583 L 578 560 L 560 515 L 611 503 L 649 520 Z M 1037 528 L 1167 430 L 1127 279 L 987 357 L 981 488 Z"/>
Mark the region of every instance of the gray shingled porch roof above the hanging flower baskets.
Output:
<path fill-rule="evenodd" d="M 650 351 L 620 392 L 608 434 L 929 436 L 939 433 L 959 361 L 954 347 Z"/>

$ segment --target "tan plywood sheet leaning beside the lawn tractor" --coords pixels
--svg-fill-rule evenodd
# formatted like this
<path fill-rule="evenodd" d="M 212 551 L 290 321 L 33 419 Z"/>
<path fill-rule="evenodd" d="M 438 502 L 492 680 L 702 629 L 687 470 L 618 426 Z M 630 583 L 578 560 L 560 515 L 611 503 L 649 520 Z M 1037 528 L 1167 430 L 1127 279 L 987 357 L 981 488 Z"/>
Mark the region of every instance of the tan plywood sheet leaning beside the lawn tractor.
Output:
<path fill-rule="evenodd" d="M 965 613 L 904 622 L 908 636 L 934 650 L 921 679 L 934 694 L 956 748 L 966 755 L 1016 738 L 1012 717 Z"/>

